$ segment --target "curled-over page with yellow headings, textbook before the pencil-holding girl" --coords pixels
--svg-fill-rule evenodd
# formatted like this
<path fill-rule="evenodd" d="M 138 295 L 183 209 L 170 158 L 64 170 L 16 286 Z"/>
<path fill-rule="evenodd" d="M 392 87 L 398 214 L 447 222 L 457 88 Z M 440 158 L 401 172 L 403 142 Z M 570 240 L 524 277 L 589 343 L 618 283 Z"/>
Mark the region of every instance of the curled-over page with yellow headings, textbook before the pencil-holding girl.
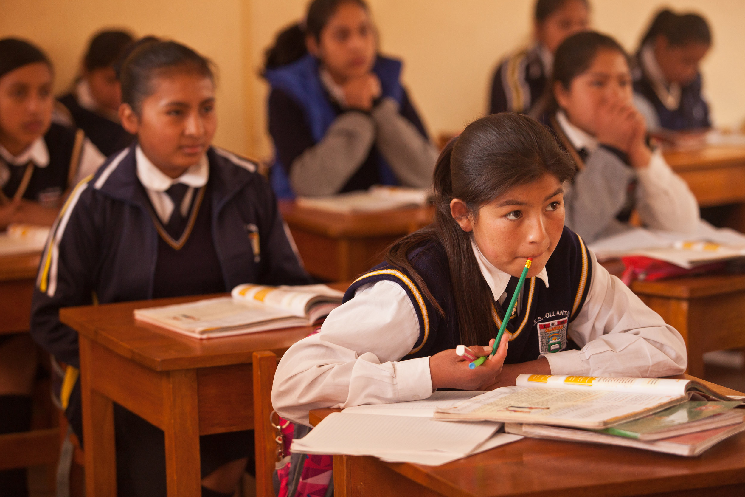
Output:
<path fill-rule="evenodd" d="M 608 390 L 610 392 L 652 393 L 682 396 L 691 380 L 668 378 L 608 378 L 601 376 L 519 375 L 519 387 L 561 388 L 563 390 Z"/>

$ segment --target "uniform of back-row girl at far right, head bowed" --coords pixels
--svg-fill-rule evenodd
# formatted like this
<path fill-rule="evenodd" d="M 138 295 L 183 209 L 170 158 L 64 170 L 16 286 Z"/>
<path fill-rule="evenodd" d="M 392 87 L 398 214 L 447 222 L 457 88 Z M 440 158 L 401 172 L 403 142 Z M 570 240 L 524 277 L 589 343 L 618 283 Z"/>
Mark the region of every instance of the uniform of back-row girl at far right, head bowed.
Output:
<path fill-rule="evenodd" d="M 691 130 L 711 127 L 702 93 L 701 73 L 691 83 L 668 83 L 651 43 L 639 51 L 633 69 L 635 104 L 650 130 Z"/>

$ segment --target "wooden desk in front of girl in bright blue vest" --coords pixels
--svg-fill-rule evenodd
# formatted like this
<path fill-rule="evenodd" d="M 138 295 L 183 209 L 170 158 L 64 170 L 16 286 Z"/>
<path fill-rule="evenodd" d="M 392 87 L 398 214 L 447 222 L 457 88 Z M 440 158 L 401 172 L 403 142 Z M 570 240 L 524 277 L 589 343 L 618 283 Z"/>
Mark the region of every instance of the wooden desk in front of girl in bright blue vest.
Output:
<path fill-rule="evenodd" d="M 434 207 L 341 214 L 280 202 L 308 273 L 328 281 L 349 281 L 383 260 L 394 241 L 425 227 Z"/>

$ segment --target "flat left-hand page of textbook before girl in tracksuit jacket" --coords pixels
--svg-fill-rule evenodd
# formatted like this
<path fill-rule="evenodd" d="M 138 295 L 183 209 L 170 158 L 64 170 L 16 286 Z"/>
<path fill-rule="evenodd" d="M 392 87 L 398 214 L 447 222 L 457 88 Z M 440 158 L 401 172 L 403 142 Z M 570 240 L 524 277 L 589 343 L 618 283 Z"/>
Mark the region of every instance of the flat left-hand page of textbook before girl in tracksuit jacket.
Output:
<path fill-rule="evenodd" d="M 134 314 L 136 319 L 148 323 L 197 334 L 293 317 L 288 311 L 276 308 L 235 303 L 231 297 L 136 309 Z"/>

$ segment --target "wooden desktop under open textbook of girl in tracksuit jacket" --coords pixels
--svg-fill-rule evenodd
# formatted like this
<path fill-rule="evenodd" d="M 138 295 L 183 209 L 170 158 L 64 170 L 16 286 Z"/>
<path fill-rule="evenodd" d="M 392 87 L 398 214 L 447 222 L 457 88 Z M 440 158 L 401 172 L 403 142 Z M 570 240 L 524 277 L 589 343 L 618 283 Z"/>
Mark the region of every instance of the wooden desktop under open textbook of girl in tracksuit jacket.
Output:
<path fill-rule="evenodd" d="M 349 283 L 331 286 L 343 291 Z M 60 310 L 60 320 L 80 335 L 156 371 L 250 363 L 253 352 L 259 350 L 282 355 L 292 344 L 311 332 L 311 326 L 300 326 L 199 340 L 134 319 L 135 309 L 223 295 L 227 294 L 69 307 Z"/>

